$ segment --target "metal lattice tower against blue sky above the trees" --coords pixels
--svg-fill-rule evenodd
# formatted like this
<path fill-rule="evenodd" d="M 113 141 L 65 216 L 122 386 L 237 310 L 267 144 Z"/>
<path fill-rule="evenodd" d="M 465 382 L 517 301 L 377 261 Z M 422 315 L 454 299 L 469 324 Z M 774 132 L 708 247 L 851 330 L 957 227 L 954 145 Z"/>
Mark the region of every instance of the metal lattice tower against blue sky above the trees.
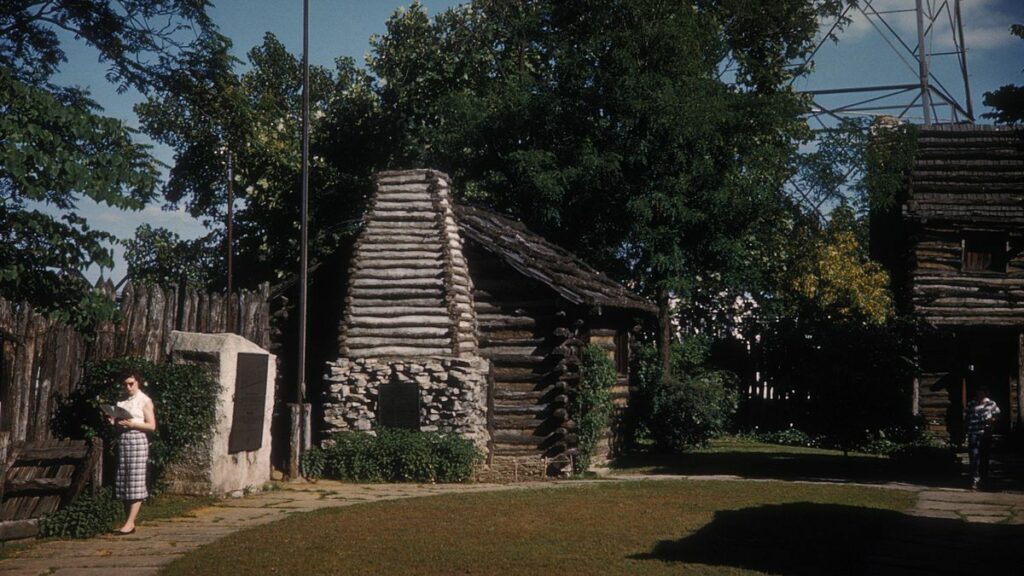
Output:
<path fill-rule="evenodd" d="M 812 73 L 804 90 L 813 98 L 808 122 L 818 138 L 844 120 L 882 119 L 890 123 L 932 124 L 974 122 L 967 68 L 967 47 L 961 0 L 859 0 L 848 4 L 810 55 L 797 66 L 812 68 L 822 55 L 850 61 L 863 56 L 859 46 L 844 45 L 844 24 L 863 18 L 868 41 L 884 43 L 888 60 L 871 60 L 862 80 L 846 86 L 822 86 Z M 831 40 L 836 40 L 833 44 Z M 873 55 L 873 54 L 872 54 Z M 876 81 L 877 80 L 877 81 Z M 884 81 L 880 82 L 880 81 Z M 819 140 L 807 146 L 817 148 Z M 815 190 L 801 174 L 786 183 L 787 193 L 822 221 L 841 198 L 851 199 L 851 184 L 860 177 L 854 166 L 843 168 L 846 183 L 830 191 Z"/>

